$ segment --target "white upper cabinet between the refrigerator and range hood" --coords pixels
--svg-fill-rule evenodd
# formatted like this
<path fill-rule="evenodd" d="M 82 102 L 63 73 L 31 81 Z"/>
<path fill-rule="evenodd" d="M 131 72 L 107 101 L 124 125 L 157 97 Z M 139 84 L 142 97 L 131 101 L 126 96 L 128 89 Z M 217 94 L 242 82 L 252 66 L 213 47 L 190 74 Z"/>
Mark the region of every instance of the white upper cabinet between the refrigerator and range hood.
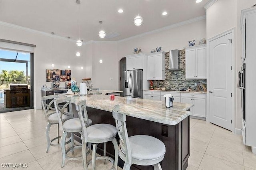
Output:
<path fill-rule="evenodd" d="M 148 55 L 148 80 L 165 80 L 165 52 Z"/>

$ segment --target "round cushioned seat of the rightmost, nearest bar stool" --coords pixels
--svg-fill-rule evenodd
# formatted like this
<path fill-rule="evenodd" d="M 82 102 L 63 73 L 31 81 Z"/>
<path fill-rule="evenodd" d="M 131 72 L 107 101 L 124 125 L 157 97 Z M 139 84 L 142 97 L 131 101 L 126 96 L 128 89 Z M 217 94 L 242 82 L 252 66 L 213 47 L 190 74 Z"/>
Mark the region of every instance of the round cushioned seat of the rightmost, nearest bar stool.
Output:
<path fill-rule="evenodd" d="M 160 158 L 165 154 L 164 143 L 152 136 L 135 135 L 129 137 L 132 158 L 139 160 L 152 160 Z M 124 148 L 121 147 L 125 153 Z"/>

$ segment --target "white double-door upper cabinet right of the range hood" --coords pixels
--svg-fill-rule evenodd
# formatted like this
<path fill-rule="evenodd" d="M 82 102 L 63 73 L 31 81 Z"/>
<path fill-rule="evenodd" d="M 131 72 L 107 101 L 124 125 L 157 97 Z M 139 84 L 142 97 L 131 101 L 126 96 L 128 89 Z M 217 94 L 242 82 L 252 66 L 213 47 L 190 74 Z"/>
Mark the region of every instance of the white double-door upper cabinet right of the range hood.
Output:
<path fill-rule="evenodd" d="M 206 79 L 206 44 L 186 49 L 186 79 Z"/>

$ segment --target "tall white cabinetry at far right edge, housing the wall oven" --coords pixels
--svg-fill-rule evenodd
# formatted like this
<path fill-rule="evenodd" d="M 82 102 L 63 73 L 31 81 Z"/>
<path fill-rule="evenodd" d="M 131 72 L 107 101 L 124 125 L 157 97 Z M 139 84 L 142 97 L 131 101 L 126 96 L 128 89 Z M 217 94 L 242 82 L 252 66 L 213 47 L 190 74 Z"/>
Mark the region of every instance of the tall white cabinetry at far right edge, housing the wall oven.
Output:
<path fill-rule="evenodd" d="M 244 144 L 252 146 L 256 154 L 256 114 L 255 114 L 255 73 L 256 73 L 256 7 L 241 12 L 240 28 L 242 31 L 242 61 L 246 65 L 245 72 L 245 119 L 242 116 L 242 136 Z M 243 99 L 242 99 L 243 100 Z"/>

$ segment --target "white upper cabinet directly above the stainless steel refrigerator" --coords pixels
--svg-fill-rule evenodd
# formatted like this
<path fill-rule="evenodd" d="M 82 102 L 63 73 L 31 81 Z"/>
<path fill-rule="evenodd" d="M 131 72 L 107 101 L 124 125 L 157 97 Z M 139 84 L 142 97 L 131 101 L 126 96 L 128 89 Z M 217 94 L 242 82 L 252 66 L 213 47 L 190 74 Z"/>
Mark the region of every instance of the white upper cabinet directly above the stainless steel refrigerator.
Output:
<path fill-rule="evenodd" d="M 126 70 L 143 69 L 143 61 L 146 55 L 143 53 L 126 56 Z"/>

